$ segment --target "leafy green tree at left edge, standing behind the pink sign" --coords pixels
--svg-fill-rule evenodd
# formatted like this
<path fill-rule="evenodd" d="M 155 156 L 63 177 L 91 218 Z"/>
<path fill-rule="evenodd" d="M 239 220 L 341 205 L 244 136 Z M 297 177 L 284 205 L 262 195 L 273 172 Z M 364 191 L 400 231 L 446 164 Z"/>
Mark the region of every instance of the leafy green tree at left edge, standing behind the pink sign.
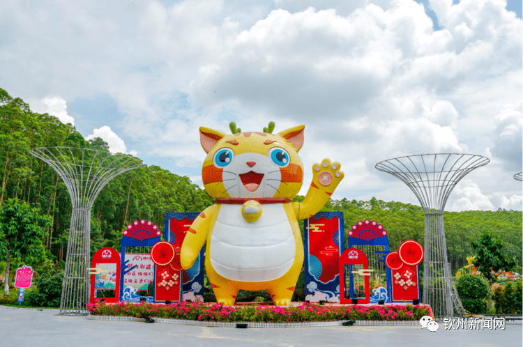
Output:
<path fill-rule="evenodd" d="M 9 295 L 9 265 L 11 258 L 20 261 L 43 259 L 45 229 L 51 226 L 51 217 L 40 215 L 18 199 L 9 199 L 0 208 L 0 256 L 6 261 L 4 296 Z"/>

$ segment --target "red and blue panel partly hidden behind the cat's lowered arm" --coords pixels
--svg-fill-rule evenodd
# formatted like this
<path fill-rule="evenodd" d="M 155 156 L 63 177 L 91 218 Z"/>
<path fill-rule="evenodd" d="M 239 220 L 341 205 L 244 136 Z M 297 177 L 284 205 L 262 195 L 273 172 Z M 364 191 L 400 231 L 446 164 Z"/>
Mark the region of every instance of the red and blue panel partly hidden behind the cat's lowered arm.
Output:
<path fill-rule="evenodd" d="M 197 212 L 165 213 L 165 240 L 172 243 L 176 256 L 179 256 L 185 234 L 198 215 Z M 182 271 L 183 300 L 204 300 L 204 252 L 202 247 L 192 267 Z"/>

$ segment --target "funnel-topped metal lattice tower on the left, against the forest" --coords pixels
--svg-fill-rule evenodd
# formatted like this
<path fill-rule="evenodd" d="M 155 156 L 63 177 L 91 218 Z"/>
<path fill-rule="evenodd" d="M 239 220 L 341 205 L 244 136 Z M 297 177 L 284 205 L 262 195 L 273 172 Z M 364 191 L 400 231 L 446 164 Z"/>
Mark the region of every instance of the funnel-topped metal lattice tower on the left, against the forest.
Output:
<path fill-rule="evenodd" d="M 109 180 L 141 164 L 130 155 L 87 148 L 42 147 L 33 148 L 31 154 L 50 164 L 58 173 L 66 183 L 73 205 L 59 314 L 87 314 L 91 207 Z"/>

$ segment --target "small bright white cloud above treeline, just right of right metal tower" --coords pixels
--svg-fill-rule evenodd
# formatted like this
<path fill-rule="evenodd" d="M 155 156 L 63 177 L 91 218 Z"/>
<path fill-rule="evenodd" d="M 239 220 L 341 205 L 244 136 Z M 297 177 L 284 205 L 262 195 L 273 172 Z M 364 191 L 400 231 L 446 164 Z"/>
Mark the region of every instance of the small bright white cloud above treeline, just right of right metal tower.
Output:
<path fill-rule="evenodd" d="M 454 198 L 457 197 L 457 200 L 452 206 L 454 212 L 467 210 L 495 210 L 489 197 L 481 192 L 480 188 L 473 180 L 461 180 L 454 188 L 453 195 Z"/>

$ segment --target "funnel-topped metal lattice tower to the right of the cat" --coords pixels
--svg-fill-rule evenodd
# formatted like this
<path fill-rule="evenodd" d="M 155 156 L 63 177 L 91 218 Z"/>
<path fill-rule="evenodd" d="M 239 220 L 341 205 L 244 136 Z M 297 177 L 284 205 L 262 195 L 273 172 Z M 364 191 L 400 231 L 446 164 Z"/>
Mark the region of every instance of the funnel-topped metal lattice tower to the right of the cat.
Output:
<path fill-rule="evenodd" d="M 453 317 L 453 302 L 464 313 L 450 279 L 450 263 L 443 212 L 450 192 L 473 169 L 489 159 L 471 154 L 423 154 L 384 160 L 376 169 L 391 173 L 416 194 L 425 213 L 425 259 L 423 261 L 423 302 L 430 304 L 435 316 Z"/>

